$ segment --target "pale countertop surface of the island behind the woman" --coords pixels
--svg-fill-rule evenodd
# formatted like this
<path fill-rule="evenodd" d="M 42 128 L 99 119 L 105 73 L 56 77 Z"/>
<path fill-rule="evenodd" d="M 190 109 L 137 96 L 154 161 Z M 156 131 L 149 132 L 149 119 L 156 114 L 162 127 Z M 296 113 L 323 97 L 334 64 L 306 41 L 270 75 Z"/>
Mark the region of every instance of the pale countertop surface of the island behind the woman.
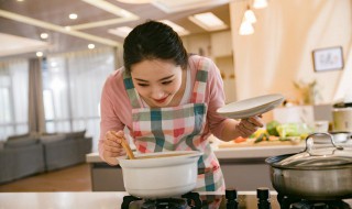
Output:
<path fill-rule="evenodd" d="M 244 147 L 222 147 L 212 145 L 212 150 L 218 160 L 241 160 L 241 158 L 266 158 L 271 156 L 298 153 L 306 147 L 305 143 L 297 145 L 273 145 L 273 146 L 244 146 Z M 94 152 L 86 155 L 88 163 L 101 163 L 99 154 Z"/>

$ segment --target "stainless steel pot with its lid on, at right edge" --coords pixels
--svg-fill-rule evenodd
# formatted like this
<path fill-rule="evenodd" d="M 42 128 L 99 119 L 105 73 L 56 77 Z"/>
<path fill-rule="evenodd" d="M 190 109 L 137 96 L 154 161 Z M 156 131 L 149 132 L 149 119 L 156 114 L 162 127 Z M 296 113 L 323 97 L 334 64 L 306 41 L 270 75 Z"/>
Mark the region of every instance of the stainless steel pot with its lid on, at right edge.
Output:
<path fill-rule="evenodd" d="M 315 135 L 328 135 L 333 146 L 314 148 Z M 301 153 L 265 162 L 271 165 L 271 180 L 279 195 L 312 200 L 352 197 L 352 150 L 336 145 L 329 133 L 308 135 Z"/>

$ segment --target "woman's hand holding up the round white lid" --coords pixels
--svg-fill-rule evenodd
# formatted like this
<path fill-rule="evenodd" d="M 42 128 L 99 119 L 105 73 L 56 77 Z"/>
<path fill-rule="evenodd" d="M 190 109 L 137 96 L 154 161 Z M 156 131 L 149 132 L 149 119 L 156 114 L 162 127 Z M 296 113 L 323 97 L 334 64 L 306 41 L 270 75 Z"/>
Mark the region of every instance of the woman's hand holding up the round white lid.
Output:
<path fill-rule="evenodd" d="M 249 138 L 252 133 L 254 133 L 258 128 L 264 125 L 262 116 L 251 117 L 248 119 L 241 119 L 240 123 L 237 127 L 238 133 L 242 138 Z"/>

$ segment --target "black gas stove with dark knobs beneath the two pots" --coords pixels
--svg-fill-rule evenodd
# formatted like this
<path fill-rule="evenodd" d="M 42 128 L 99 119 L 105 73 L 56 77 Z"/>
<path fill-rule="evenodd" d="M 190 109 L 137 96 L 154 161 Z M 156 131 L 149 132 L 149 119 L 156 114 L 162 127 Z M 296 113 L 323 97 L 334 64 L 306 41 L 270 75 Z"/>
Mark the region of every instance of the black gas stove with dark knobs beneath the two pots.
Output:
<path fill-rule="evenodd" d="M 124 196 L 121 209 L 352 209 L 352 199 L 315 201 L 280 196 L 261 187 L 256 191 L 227 189 L 226 195 L 188 193 L 180 197 L 142 199 Z"/>

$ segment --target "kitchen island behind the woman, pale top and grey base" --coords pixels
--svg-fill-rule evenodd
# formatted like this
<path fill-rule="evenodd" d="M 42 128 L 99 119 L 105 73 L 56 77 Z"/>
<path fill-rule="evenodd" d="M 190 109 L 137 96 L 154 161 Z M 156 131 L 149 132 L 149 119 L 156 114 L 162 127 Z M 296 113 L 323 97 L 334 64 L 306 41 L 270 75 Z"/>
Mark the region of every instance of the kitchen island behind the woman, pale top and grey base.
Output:
<path fill-rule="evenodd" d="M 257 187 L 274 189 L 270 179 L 270 166 L 265 158 L 287 153 L 297 153 L 305 148 L 298 145 L 265 145 L 245 147 L 222 147 L 212 144 L 219 158 L 227 187 L 239 190 L 255 190 Z M 90 164 L 94 191 L 124 191 L 122 169 L 102 162 L 98 153 L 86 156 Z"/>

